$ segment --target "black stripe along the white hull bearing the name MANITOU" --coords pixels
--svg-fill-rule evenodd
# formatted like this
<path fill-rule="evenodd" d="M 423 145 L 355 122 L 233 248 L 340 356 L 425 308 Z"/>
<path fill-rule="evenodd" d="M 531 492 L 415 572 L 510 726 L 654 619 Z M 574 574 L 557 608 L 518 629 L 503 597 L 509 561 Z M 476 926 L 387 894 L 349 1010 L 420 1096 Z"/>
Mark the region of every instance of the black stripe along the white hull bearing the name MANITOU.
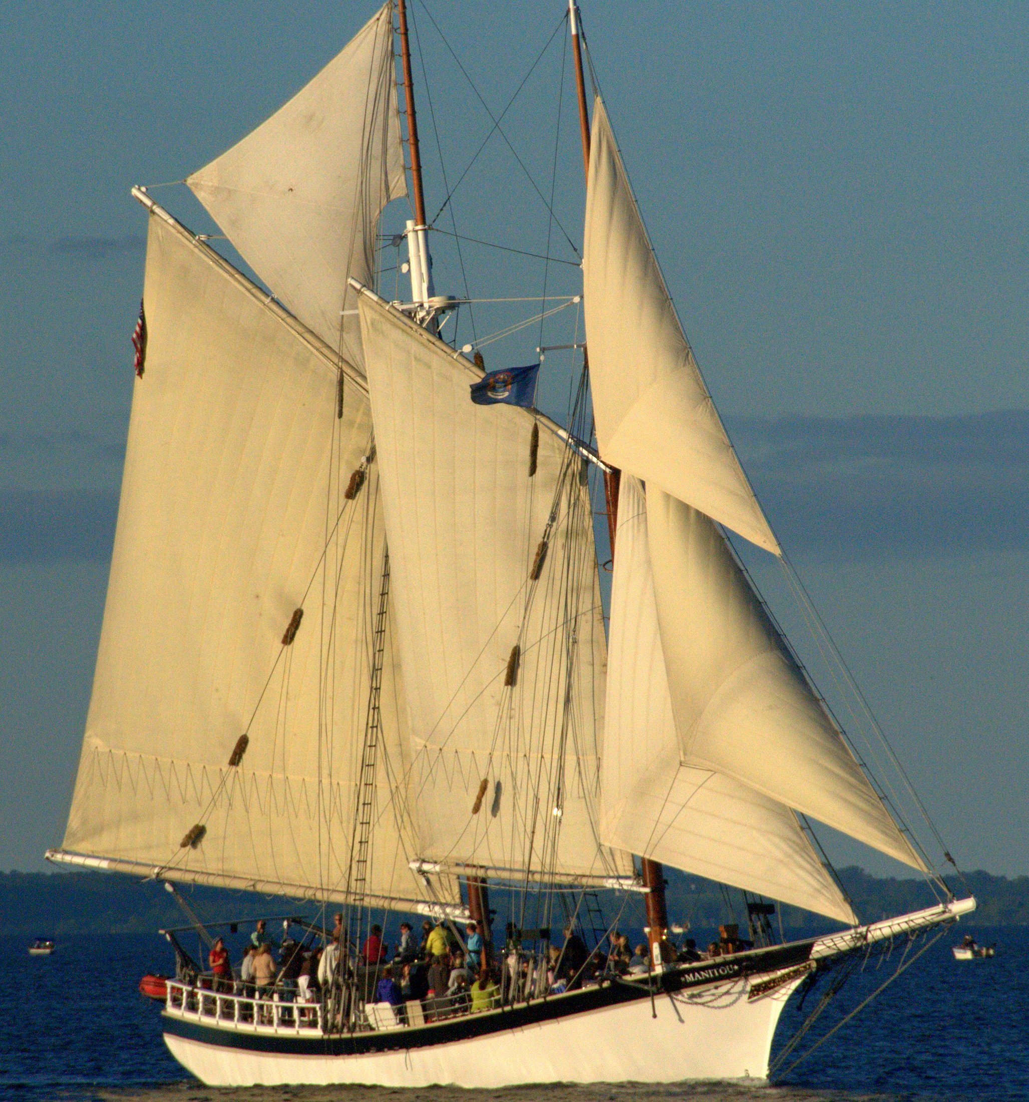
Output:
<path fill-rule="evenodd" d="M 777 972 L 803 964 L 811 955 L 812 942 L 765 950 L 747 958 L 721 958 L 703 964 L 664 973 L 661 992 L 687 991 L 706 987 L 745 975 Z M 565 995 L 541 998 L 528 1005 L 513 1006 L 499 1012 L 465 1014 L 457 1018 L 426 1026 L 345 1034 L 337 1037 L 302 1037 L 290 1034 L 253 1034 L 245 1030 L 219 1029 L 195 1019 L 164 1015 L 164 1033 L 185 1040 L 201 1041 L 219 1048 L 243 1049 L 250 1052 L 272 1052 L 280 1056 L 362 1056 L 371 1052 L 390 1052 L 413 1048 L 429 1048 L 452 1041 L 468 1040 L 507 1029 L 552 1022 L 573 1014 L 588 1014 L 622 1003 L 650 998 L 646 983 L 616 982 L 603 987 L 586 987 Z"/>

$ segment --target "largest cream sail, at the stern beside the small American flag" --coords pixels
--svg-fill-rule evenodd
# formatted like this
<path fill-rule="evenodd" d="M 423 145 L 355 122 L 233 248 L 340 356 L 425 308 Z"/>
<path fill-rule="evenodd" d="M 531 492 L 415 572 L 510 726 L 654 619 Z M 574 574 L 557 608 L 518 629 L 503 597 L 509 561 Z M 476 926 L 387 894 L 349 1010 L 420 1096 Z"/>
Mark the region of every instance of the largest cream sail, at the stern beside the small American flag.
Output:
<path fill-rule="evenodd" d="M 118 530 L 64 850 L 171 879 L 349 890 L 384 528 L 367 396 L 331 349 L 153 215 Z M 302 614 L 301 614 L 302 611 Z M 241 736 L 246 735 L 246 739 Z M 369 896 L 458 900 L 408 867 L 391 628 Z M 239 764 L 230 764 L 238 760 Z"/>

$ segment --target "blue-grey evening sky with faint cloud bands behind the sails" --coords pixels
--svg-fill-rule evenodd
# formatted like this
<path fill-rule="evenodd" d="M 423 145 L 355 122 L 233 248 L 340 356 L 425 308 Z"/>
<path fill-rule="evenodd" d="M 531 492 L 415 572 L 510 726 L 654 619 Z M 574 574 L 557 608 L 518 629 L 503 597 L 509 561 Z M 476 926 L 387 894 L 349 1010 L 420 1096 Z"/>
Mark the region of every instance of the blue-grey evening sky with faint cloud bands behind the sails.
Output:
<path fill-rule="evenodd" d="M 63 830 L 102 613 L 145 231 L 129 187 L 217 155 L 372 6 L 2 7 L 0 867 L 34 868 Z M 495 133 L 436 225 L 537 252 L 549 238 L 574 260 L 561 31 L 544 50 L 562 3 L 412 8 L 430 214 L 492 126 L 461 66 L 497 114 L 543 52 L 503 130 L 535 186 L 553 181 L 557 224 Z M 1029 9 L 583 8 L 670 289 L 772 525 L 955 855 L 1029 872 Z M 154 195 L 212 228 L 184 187 Z M 442 290 L 464 293 L 463 261 L 474 296 L 541 293 L 539 261 L 433 247 Z M 546 279 L 578 289 L 571 264 Z M 476 333 L 527 311 L 476 307 Z M 487 363 L 527 363 L 538 339 Z M 566 385 L 548 359 L 548 408 Z M 781 577 L 748 561 L 808 658 Z"/>

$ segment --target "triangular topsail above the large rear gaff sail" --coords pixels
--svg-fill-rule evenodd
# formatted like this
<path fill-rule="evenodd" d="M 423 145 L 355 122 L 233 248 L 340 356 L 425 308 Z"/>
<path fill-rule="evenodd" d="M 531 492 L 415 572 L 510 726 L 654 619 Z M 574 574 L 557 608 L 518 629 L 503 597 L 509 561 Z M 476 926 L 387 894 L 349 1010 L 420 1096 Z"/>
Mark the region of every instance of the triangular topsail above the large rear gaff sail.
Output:
<path fill-rule="evenodd" d="M 360 365 L 347 279 L 375 282 L 379 214 L 407 194 L 392 4 L 270 119 L 186 183 L 272 292 Z"/>

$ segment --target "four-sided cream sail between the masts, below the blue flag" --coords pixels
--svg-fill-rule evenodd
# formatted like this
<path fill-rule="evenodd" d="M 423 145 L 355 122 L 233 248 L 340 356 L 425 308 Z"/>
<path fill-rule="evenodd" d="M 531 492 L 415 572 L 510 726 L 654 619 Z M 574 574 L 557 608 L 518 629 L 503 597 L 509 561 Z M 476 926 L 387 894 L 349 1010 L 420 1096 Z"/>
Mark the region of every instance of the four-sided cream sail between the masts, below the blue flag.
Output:
<path fill-rule="evenodd" d="M 544 430 L 532 474 L 530 414 L 473 403 L 464 357 L 359 307 L 424 856 L 629 872 L 594 825 L 605 639 L 582 460 Z"/>

